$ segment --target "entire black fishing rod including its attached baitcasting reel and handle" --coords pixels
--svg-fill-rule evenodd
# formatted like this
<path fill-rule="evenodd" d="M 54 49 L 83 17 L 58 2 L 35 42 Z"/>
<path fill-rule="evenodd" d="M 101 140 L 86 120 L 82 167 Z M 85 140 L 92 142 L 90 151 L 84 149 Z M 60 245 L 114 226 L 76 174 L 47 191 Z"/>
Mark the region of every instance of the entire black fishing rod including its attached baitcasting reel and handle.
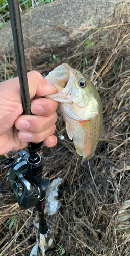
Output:
<path fill-rule="evenodd" d="M 31 115 L 19 1 L 9 0 L 9 9 L 23 111 L 25 114 Z M 22 209 L 36 206 L 39 213 L 39 232 L 46 234 L 48 226 L 44 217 L 44 200 L 45 190 L 50 180 L 48 179 L 41 183 L 42 161 L 38 151 L 42 144 L 43 141 L 38 144 L 29 143 L 29 153 L 22 150 L 18 153 L 19 158 L 8 158 L 3 160 L 1 164 L 7 165 L 4 168 L 10 167 L 8 185 L 10 191 L 15 195 L 19 206 Z"/>

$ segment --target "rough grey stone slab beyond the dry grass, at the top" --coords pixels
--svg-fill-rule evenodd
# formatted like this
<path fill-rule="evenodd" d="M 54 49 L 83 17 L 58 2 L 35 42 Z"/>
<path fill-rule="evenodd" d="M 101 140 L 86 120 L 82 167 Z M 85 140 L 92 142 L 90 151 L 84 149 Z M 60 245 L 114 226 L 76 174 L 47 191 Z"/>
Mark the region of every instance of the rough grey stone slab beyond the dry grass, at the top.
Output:
<path fill-rule="evenodd" d="M 24 46 L 64 45 L 70 38 L 85 35 L 90 27 L 104 22 L 110 14 L 115 15 L 115 9 L 120 10 L 122 3 L 119 0 L 55 0 L 30 9 L 21 15 Z M 11 24 L 7 24 L 0 30 L 0 52 L 8 52 L 12 47 Z"/>

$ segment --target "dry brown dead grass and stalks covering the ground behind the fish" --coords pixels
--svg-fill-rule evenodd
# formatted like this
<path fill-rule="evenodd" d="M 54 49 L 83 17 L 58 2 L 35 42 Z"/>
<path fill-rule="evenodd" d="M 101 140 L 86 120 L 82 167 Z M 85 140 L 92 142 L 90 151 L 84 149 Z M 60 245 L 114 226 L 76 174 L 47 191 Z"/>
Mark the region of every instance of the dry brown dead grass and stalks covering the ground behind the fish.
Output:
<path fill-rule="evenodd" d="M 100 28 L 91 29 L 84 38 L 55 49 L 26 49 L 28 71 L 46 75 L 63 62 L 79 69 L 96 86 L 103 104 L 105 132 L 95 156 L 81 166 L 68 139 L 58 109 L 56 136 L 64 141 L 48 149 L 42 147 L 43 178 L 62 178 L 58 199 L 62 205 L 51 225 L 53 246 L 46 256 L 128 256 L 129 233 L 129 106 L 130 106 L 130 24 L 129 3 L 115 11 Z M 59 58 L 57 61 L 53 54 Z M 10 56 L 10 57 L 9 57 Z M 69 57 L 68 57 L 69 56 Z M 16 76 L 14 53 L 1 56 L 1 78 Z M 16 155 L 10 152 L 7 156 Z M 35 209 L 21 210 L 7 187 L 7 170 L 1 167 L 1 251 L 0 255 L 30 255 L 39 234 L 33 221 Z M 9 222 L 7 222 L 10 219 Z M 11 221 L 16 225 L 10 227 Z M 56 250 L 58 250 L 56 252 Z"/>

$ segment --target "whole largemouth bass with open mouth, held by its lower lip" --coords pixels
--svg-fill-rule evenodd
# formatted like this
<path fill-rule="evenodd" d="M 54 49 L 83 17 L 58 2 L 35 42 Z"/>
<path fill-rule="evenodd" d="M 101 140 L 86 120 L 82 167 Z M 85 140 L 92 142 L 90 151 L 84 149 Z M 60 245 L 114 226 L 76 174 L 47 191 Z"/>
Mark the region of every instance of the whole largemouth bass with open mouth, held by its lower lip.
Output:
<path fill-rule="evenodd" d="M 84 160 L 92 158 L 103 134 L 102 103 L 95 86 L 81 74 L 63 63 L 45 79 L 53 83 L 57 93 L 46 98 L 59 101 L 67 134 L 73 139 L 77 153 Z"/>

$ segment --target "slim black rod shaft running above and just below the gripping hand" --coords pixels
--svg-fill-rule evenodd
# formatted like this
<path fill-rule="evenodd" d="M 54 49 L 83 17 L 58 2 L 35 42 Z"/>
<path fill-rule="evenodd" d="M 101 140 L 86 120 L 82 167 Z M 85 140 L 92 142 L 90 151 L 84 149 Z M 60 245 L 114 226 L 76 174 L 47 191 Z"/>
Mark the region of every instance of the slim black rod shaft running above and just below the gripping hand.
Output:
<path fill-rule="evenodd" d="M 21 18 L 19 10 L 19 1 L 18 0 L 9 0 L 10 8 L 10 18 L 11 18 L 11 27 L 14 40 L 14 50 L 16 56 L 18 77 L 21 90 L 22 105 L 25 114 L 31 115 L 30 112 L 30 96 L 29 96 L 29 87 L 27 79 L 27 68 L 25 64 L 25 54 L 24 54 L 24 45 L 23 45 L 23 36 L 22 36 L 22 27 L 21 27 Z M 31 152 L 36 152 L 35 143 L 29 143 L 30 154 Z M 31 154 L 31 158 L 36 158 L 36 153 Z"/>

